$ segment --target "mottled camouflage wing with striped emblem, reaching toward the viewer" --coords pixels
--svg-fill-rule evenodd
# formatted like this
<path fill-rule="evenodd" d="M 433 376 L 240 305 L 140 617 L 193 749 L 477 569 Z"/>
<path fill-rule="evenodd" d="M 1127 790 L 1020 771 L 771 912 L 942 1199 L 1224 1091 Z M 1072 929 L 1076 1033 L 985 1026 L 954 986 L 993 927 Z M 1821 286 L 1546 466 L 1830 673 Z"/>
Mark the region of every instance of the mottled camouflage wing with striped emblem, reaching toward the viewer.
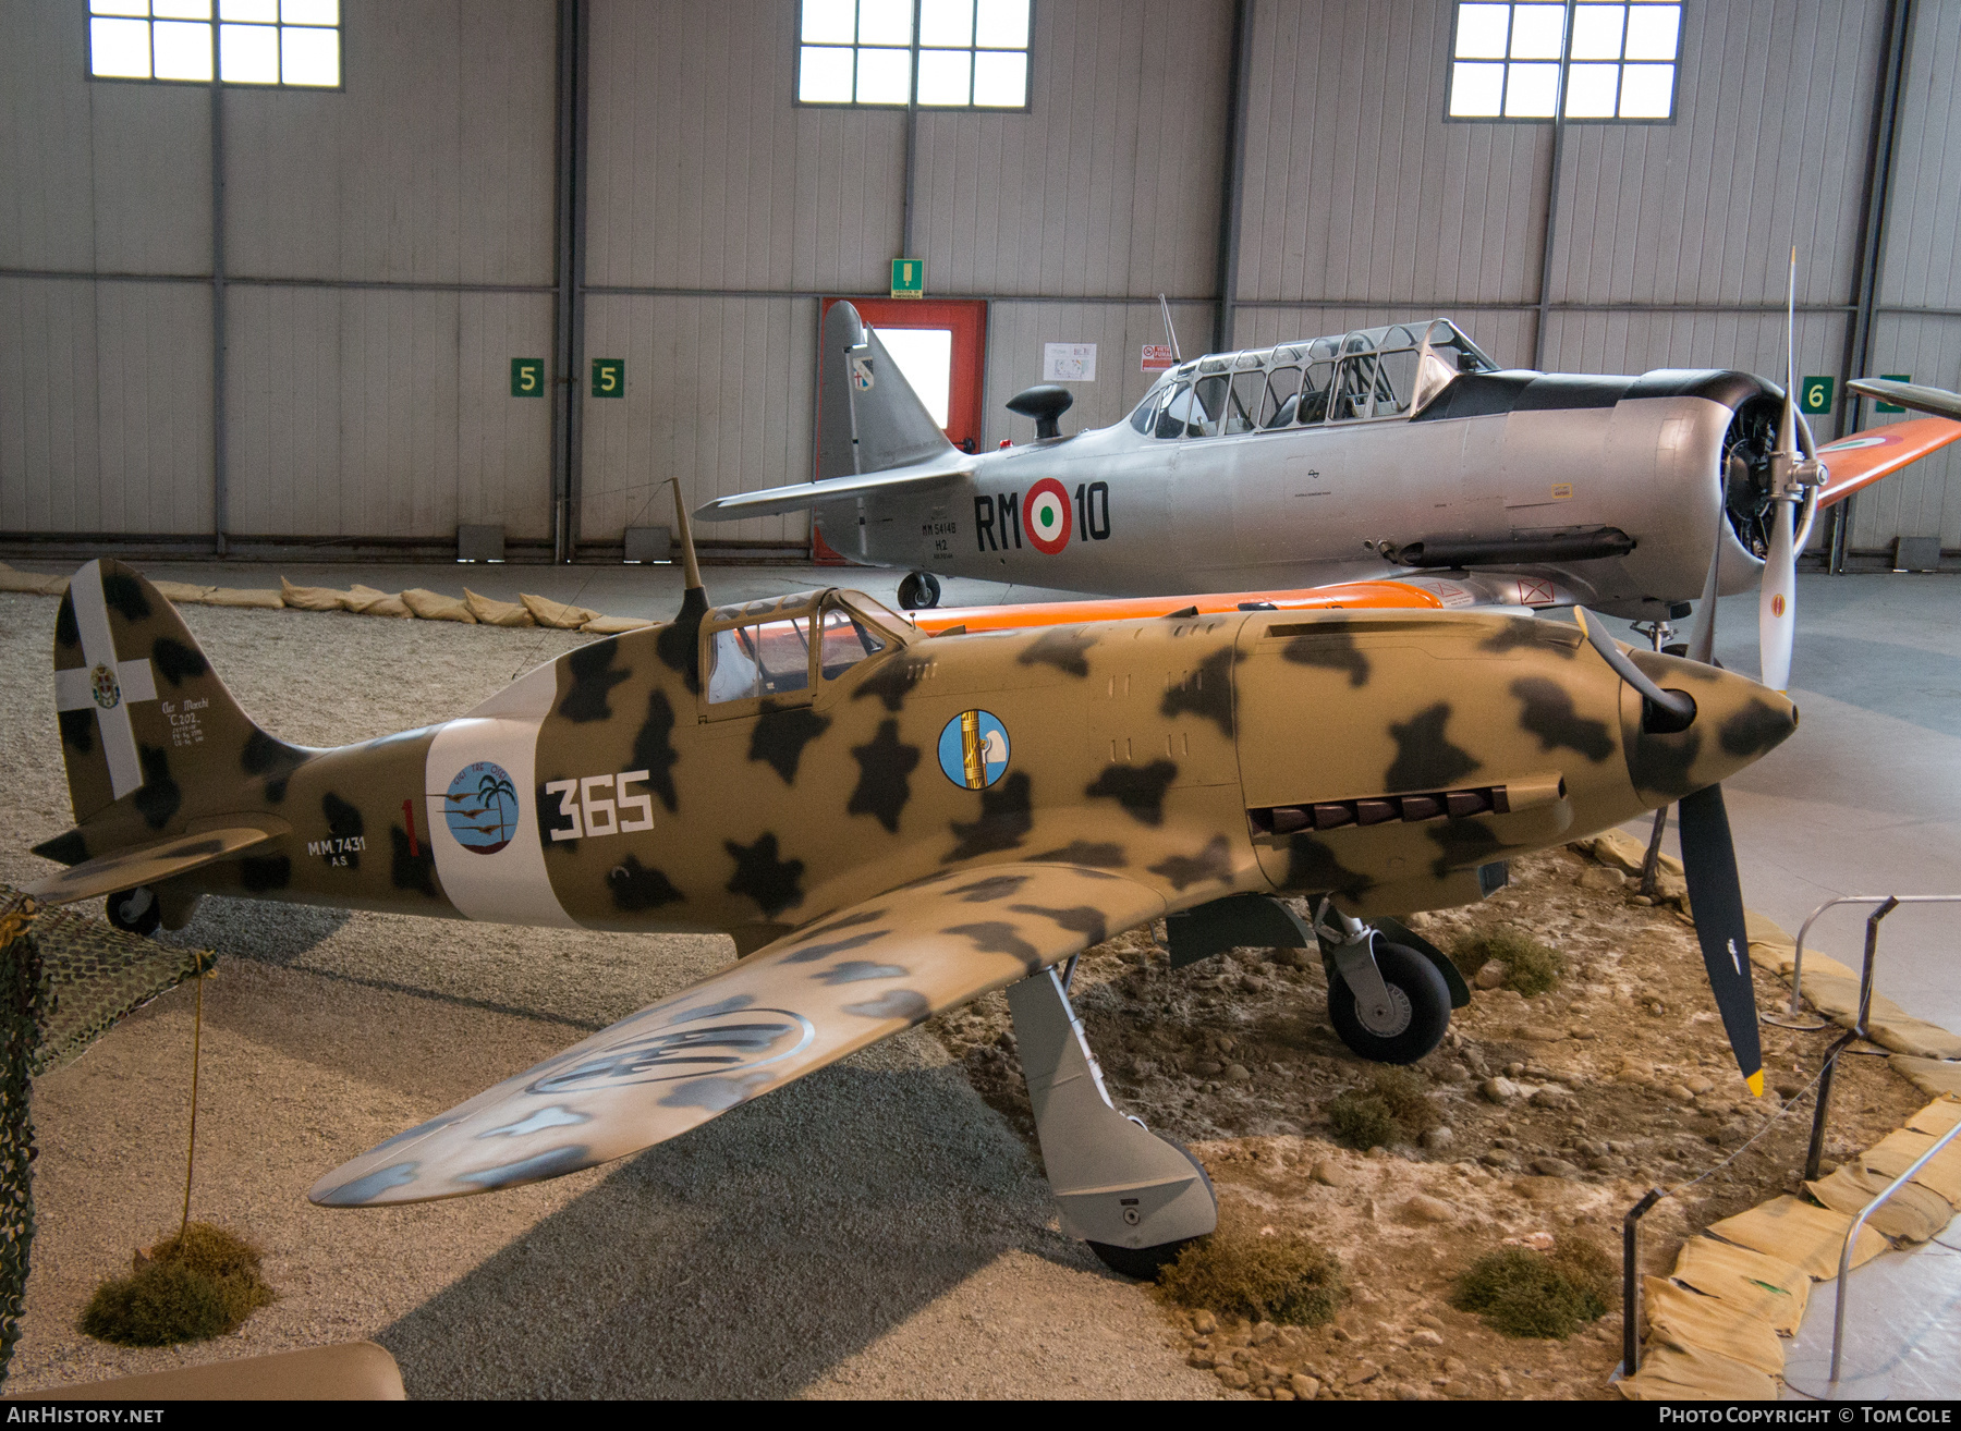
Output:
<path fill-rule="evenodd" d="M 990 864 L 892 890 L 388 1139 L 308 1198 L 461 1198 L 639 1153 L 1163 912 L 1155 890 L 1075 864 Z"/>

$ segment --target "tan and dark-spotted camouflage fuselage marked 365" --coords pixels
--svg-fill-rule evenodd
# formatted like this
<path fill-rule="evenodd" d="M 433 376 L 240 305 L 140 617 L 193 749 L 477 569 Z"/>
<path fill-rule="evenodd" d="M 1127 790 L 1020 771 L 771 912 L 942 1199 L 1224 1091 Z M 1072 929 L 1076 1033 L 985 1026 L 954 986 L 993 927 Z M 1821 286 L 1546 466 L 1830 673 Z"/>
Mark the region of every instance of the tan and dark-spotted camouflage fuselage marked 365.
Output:
<path fill-rule="evenodd" d="M 186 788 L 175 825 L 292 829 L 180 878 L 739 947 L 1002 861 L 1120 870 L 1167 910 L 1251 890 L 1410 912 L 1710 784 L 1792 723 L 1749 680 L 1641 657 L 1700 704 L 1688 733 L 1643 733 L 1639 698 L 1575 627 L 1498 614 L 926 637 L 869 598 L 812 592 L 708 612 L 694 668 L 688 635 L 596 641 L 463 719 L 296 753 L 243 790 Z M 120 817 L 84 825 L 90 843 L 127 843 L 106 827 Z"/>

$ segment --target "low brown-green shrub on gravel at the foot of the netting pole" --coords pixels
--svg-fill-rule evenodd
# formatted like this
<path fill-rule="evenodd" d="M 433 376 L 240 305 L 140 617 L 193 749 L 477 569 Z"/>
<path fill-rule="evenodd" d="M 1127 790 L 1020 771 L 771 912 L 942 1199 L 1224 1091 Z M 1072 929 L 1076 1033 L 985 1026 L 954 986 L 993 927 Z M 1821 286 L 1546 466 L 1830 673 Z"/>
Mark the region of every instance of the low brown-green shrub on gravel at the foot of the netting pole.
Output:
<path fill-rule="evenodd" d="M 118 1347 L 171 1347 L 233 1331 L 275 1298 L 259 1249 L 210 1223 L 190 1223 L 110 1278 L 82 1309 L 80 1329 Z"/>

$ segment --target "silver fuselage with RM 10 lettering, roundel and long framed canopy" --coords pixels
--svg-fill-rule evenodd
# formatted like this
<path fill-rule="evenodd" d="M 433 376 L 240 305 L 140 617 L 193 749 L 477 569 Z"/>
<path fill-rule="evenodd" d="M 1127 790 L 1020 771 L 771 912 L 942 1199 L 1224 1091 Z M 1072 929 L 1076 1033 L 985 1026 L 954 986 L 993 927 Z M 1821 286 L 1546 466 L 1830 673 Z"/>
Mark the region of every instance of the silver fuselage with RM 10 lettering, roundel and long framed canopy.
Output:
<path fill-rule="evenodd" d="M 1316 345 L 1345 353 L 1398 331 Z M 1316 363 L 1316 345 L 1294 345 L 1186 363 L 1110 427 L 812 512 L 857 561 L 1112 596 L 1463 565 L 1516 574 L 1524 606 L 1653 616 L 1700 596 L 1716 543 L 1722 590 L 1755 584 L 1763 563 L 1737 539 L 1747 516 L 1724 516 L 1726 496 L 1739 500 L 1726 455 L 1769 384 L 1726 370 L 1486 370 L 1465 339 L 1437 333 L 1455 329 L 1439 320 L 1418 347 L 1381 357 Z M 1375 400 L 1343 400 L 1343 384 L 1367 380 L 1347 376 L 1363 363 L 1381 363 Z M 1322 388 L 1312 404 L 1304 370 Z"/>

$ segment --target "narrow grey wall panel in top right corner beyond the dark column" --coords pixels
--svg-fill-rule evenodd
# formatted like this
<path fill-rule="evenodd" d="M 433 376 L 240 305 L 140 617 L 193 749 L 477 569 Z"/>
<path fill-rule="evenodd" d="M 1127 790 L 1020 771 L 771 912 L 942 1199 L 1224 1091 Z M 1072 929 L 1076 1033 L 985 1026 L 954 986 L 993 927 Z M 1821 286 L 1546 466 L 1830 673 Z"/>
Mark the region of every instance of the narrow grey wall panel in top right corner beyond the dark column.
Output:
<path fill-rule="evenodd" d="M 1914 6 L 1906 53 L 1881 302 L 1961 308 L 1961 4 Z"/>

